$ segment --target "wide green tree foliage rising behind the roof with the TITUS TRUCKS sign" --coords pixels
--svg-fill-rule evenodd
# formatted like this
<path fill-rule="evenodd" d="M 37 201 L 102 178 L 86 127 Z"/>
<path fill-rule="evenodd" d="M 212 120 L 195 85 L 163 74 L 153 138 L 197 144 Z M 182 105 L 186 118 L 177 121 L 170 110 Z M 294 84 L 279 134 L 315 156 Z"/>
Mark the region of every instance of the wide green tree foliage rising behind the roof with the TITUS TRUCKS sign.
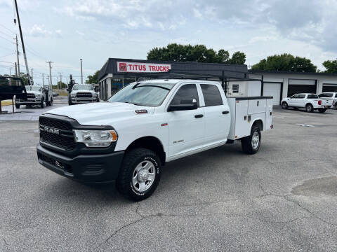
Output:
<path fill-rule="evenodd" d="M 153 48 L 147 53 L 147 59 L 175 62 L 206 62 L 224 64 L 244 64 L 246 55 L 244 52 L 234 52 L 230 58 L 227 50 L 218 52 L 205 45 L 180 45 L 171 43 L 163 48 Z"/>

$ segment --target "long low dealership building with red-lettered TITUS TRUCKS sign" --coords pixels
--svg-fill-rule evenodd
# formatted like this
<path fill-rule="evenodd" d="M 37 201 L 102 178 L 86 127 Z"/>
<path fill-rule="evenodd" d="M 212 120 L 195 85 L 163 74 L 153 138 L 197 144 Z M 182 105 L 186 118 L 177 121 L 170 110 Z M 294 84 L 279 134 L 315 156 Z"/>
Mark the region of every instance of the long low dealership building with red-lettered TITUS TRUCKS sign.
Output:
<path fill-rule="evenodd" d="M 125 85 L 149 78 L 216 80 L 227 96 L 272 96 L 274 105 L 300 92 L 337 92 L 337 74 L 333 73 L 253 71 L 235 64 L 109 58 L 98 74 L 100 99 L 106 101 Z"/>

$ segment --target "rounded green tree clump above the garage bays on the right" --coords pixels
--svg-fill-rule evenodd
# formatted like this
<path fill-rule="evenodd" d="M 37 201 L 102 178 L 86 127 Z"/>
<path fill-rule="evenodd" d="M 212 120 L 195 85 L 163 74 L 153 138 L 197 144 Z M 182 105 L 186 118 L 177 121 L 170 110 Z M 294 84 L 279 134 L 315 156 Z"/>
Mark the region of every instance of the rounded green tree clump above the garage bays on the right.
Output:
<path fill-rule="evenodd" d="M 254 64 L 251 69 L 265 71 L 293 71 L 315 73 L 317 66 L 312 64 L 310 59 L 305 57 L 294 57 L 291 54 L 268 56 L 267 59 L 261 59 L 258 64 Z"/>

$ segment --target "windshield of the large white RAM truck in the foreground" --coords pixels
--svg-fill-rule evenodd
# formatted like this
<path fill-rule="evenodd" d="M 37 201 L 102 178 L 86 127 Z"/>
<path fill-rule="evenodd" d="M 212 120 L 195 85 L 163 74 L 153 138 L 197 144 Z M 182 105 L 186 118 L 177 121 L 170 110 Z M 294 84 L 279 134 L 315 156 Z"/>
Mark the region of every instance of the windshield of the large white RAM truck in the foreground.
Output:
<path fill-rule="evenodd" d="M 108 102 L 125 102 L 140 106 L 159 106 L 169 94 L 172 84 L 132 83 L 114 94 Z"/>

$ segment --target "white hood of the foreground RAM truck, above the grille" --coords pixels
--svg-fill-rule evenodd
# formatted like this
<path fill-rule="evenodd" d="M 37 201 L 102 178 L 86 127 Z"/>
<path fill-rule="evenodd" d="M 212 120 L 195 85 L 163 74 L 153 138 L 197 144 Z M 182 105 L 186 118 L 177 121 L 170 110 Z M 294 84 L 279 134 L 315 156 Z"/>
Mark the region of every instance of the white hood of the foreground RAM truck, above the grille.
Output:
<path fill-rule="evenodd" d="M 146 109 L 147 113 L 137 114 L 136 110 Z M 110 125 L 126 118 L 152 115 L 153 107 L 136 106 L 121 102 L 93 102 L 74 106 L 63 106 L 48 111 L 50 114 L 73 118 L 81 125 Z M 113 125 L 112 125 L 113 126 Z"/>

